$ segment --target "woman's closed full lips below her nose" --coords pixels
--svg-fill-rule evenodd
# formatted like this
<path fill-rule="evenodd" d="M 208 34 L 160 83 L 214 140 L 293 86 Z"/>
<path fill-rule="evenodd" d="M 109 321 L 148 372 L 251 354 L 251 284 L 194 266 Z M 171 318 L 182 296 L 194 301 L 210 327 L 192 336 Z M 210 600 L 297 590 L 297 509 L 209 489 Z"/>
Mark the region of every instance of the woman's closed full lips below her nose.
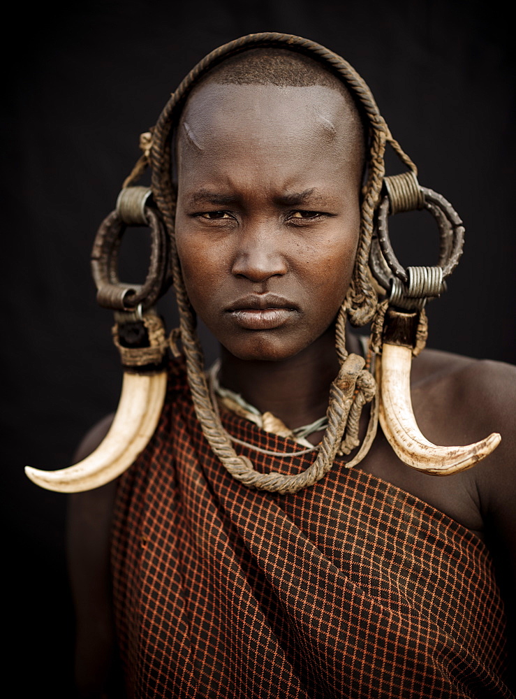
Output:
<path fill-rule="evenodd" d="M 226 312 L 246 330 L 273 330 L 286 324 L 299 309 L 276 294 L 249 294 L 231 304 Z"/>

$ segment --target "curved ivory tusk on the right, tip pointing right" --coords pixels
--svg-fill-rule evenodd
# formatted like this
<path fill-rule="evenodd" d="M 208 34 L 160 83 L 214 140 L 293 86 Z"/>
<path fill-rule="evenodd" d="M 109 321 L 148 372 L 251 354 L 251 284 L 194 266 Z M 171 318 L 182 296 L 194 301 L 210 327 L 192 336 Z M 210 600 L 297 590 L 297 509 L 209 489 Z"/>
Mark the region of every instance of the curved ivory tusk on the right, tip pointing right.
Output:
<path fill-rule="evenodd" d="M 378 362 L 380 386 L 380 424 L 383 433 L 401 461 L 417 470 L 434 475 L 449 475 L 471 468 L 491 454 L 501 441 L 499 433 L 464 447 L 438 447 L 420 432 L 411 401 L 410 347 L 383 343 Z"/>

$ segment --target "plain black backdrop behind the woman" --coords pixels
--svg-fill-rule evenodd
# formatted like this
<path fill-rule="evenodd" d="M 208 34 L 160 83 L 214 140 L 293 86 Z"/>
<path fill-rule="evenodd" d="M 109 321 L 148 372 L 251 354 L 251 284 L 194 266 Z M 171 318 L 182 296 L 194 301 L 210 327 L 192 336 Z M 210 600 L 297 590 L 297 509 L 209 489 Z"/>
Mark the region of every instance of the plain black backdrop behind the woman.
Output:
<path fill-rule="evenodd" d="M 430 309 L 429 345 L 515 361 L 513 62 L 510 26 L 496 3 L 14 8 L 4 37 L 15 48 L 3 58 L 1 511 L 6 640 L 13 663 L 23 665 L 16 696 L 73 693 L 66 496 L 38 489 L 22 468 L 71 463 L 84 432 L 117 404 L 112 317 L 98 309 L 89 276 L 94 233 L 139 156 L 140 132 L 156 122 L 179 80 L 209 50 L 251 31 L 307 36 L 362 74 L 418 164 L 420 183 L 452 201 L 466 224 L 462 263 Z M 393 224 L 404 264 L 434 264 L 427 218 L 406 215 L 399 230 Z M 146 249 L 138 240 L 129 247 L 123 271 L 134 282 Z M 169 295 L 162 306 L 169 329 L 172 306 Z"/>

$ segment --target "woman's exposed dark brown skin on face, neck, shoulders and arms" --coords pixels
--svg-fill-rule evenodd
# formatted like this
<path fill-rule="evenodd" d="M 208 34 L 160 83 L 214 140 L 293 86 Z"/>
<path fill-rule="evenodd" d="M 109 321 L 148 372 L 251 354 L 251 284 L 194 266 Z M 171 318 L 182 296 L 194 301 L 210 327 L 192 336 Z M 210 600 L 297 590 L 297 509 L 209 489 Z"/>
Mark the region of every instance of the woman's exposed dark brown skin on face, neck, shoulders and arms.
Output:
<path fill-rule="evenodd" d="M 338 371 L 334 319 L 360 226 L 356 123 L 329 87 L 207 84 L 191 97 L 179 127 L 176 235 L 189 297 L 221 343 L 221 383 L 290 428 L 324 414 Z M 360 352 L 351 333 L 347 344 Z M 413 362 L 411 384 L 429 440 L 469 444 L 498 431 L 501 445 L 470 470 L 435 477 L 399 461 L 378 430 L 356 468 L 486 542 L 514 628 L 516 370 L 427 349 Z M 109 422 L 87 436 L 78 458 L 96 447 Z M 102 696 L 116 655 L 108 559 L 115 488 L 71 498 L 82 696 Z"/>

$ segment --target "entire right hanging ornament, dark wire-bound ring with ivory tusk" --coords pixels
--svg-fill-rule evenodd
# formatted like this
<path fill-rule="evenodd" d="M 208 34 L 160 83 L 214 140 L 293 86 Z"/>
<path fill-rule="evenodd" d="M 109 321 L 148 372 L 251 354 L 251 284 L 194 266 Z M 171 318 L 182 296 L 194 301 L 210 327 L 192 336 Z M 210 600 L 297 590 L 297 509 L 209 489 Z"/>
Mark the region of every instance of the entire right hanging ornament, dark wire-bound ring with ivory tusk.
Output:
<path fill-rule="evenodd" d="M 433 475 L 449 475 L 471 468 L 496 449 L 501 440 L 492 433 L 475 444 L 441 447 L 429 442 L 415 421 L 411 401 L 412 356 L 425 347 L 425 305 L 440 296 L 462 254 L 464 226 L 441 194 L 420 187 L 415 173 L 385 178 L 385 196 L 378 208 L 376 235 L 371 247 L 371 272 L 390 296 L 378 306 L 371 333 L 377 352 L 376 380 L 380 391 L 380 424 L 395 453 L 412 468 Z M 387 217 L 425 208 L 436 219 L 440 250 L 433 267 L 403 268 L 390 243 Z"/>

